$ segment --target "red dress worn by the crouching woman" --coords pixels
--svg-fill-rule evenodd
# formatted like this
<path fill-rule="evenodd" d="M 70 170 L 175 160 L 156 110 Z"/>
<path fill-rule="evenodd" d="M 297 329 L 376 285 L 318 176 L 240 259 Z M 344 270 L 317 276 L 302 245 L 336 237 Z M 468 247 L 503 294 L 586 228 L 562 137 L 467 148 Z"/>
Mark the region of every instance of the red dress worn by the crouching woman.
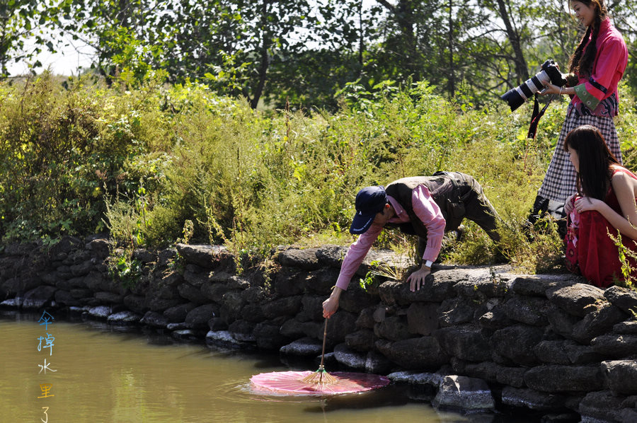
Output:
<path fill-rule="evenodd" d="M 637 179 L 636 175 L 624 168 L 615 169 L 613 175 L 617 172 L 624 172 L 631 175 L 631 178 Z M 623 216 L 612 185 L 604 202 Z M 619 250 L 608 236 L 610 233 L 614 238 L 617 238 L 619 233 L 616 228 L 609 224 L 602 214 L 592 210 L 578 214 L 573 209 L 568 217 L 567 260 L 571 264 L 575 264 L 576 258 L 577 266 L 583 277 L 600 288 L 610 286 L 616 280 L 624 279 L 621 273 L 621 262 L 619 262 Z M 637 253 L 637 243 L 631 238 L 621 236 L 621 243 Z M 630 265 L 636 267 L 636 261 L 630 259 Z M 631 272 L 631 277 L 637 277 L 637 272 Z"/>

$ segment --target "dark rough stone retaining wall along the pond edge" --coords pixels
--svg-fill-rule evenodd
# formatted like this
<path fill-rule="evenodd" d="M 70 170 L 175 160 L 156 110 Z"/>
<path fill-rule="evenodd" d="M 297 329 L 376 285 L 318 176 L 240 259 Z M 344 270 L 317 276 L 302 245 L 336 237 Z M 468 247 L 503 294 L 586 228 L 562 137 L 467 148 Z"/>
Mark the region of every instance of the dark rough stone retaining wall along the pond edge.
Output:
<path fill-rule="evenodd" d="M 64 308 L 181 340 L 316 357 L 321 303 L 346 251 L 282 248 L 236 274 L 234 258 L 218 246 L 137 250 L 142 274 L 124 287 L 109 277 L 109 250 L 96 236 L 67 237 L 49 250 L 4 246 L 1 306 Z M 370 253 L 358 273 L 372 260 L 405 267 L 398 258 Z M 434 270 L 415 292 L 378 277 L 368 291 L 353 281 L 328 321 L 327 358 L 415 384 L 436 407 L 518 408 L 544 414 L 544 422 L 637 422 L 637 292 L 507 267 Z"/>

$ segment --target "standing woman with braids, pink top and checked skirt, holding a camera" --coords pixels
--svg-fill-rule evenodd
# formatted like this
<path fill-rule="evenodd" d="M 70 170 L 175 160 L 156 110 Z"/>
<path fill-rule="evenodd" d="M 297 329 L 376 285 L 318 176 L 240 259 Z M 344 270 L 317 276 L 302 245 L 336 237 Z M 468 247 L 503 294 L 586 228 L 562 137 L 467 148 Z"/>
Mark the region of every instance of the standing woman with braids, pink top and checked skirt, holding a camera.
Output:
<path fill-rule="evenodd" d="M 549 170 L 529 218 L 531 222 L 540 212 L 546 212 L 549 200 L 563 204 L 575 192 L 575 170 L 563 149 L 566 134 L 575 127 L 592 124 L 599 128 L 610 151 L 621 163 L 613 117 L 619 109 L 617 83 L 628 62 L 626 42 L 610 22 L 604 0 L 570 0 L 570 7 L 587 29 L 570 58 L 570 73 L 576 77 L 577 83 L 573 81 L 573 86 L 566 87 L 549 84 L 544 91 L 544 94 L 570 95 L 571 101 Z"/>

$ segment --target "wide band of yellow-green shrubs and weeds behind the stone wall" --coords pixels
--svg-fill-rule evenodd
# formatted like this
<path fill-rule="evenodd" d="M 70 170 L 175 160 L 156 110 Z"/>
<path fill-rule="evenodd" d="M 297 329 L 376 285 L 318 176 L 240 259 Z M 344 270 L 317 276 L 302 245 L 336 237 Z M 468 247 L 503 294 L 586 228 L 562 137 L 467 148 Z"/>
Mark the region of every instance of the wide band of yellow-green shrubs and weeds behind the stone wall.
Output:
<path fill-rule="evenodd" d="M 555 148 L 566 103 L 552 104 L 535 140 L 532 105 L 476 110 L 426 83 L 349 84 L 340 110 L 252 110 L 197 83 L 104 88 L 78 79 L 0 84 L 0 233 L 4 241 L 110 232 L 132 251 L 176 241 L 226 243 L 238 256 L 279 244 L 350 243 L 356 192 L 408 175 L 474 175 L 501 218 L 500 249 L 473 224 L 444 253 L 488 264 L 505 255 L 525 270 L 556 269 L 553 225 L 529 242 L 521 227 Z M 618 132 L 634 163 L 636 119 L 622 99 Z M 409 237 L 379 245 L 413 252 Z M 118 250 L 119 251 L 119 250 Z M 123 258 L 122 258 L 123 257 Z M 130 273 L 130 272 L 129 272 Z M 128 273 L 127 273 L 128 274 Z"/>

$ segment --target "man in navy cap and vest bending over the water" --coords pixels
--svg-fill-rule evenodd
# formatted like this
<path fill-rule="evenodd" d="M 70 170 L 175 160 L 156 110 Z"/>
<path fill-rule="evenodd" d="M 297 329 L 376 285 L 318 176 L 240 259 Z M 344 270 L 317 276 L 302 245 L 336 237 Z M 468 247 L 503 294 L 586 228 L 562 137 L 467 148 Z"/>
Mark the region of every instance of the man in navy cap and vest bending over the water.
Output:
<path fill-rule="evenodd" d="M 340 294 L 348 289 L 362 260 L 385 227 L 418 236 L 423 262 L 407 278 L 411 291 L 420 289 L 438 257 L 444 232 L 455 231 L 466 217 L 500 241 L 495 221 L 498 214 L 472 176 L 459 172 L 437 172 L 391 182 L 387 187 L 365 187 L 356 195 L 356 214 L 350 233 L 360 234 L 343 259 L 331 296 L 323 301 L 323 317 L 338 310 Z"/>

